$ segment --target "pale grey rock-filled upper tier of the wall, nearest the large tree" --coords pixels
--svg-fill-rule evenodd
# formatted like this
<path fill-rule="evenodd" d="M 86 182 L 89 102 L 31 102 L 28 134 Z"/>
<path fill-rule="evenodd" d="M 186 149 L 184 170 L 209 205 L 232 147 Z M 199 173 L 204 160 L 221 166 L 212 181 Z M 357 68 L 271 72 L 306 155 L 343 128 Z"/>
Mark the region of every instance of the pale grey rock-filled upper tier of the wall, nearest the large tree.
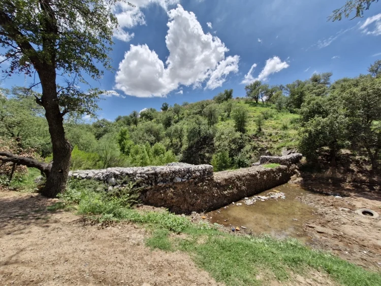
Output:
<path fill-rule="evenodd" d="M 204 181 L 213 176 L 210 165 L 190 165 L 171 163 L 166 166 L 107 168 L 102 170 L 77 170 L 69 177 L 77 179 L 94 179 L 107 183 L 109 189 L 118 188 L 128 182 L 135 182 L 137 187 L 172 186 L 177 183 Z"/>

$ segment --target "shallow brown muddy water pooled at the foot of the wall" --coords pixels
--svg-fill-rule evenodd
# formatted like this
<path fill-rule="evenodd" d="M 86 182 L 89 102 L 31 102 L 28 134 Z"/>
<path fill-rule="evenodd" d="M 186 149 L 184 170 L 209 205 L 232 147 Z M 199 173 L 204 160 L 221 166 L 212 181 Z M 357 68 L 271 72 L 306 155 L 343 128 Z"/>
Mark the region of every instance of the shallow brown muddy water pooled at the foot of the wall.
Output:
<path fill-rule="evenodd" d="M 268 197 L 271 196 L 269 193 L 276 193 L 275 190 L 284 193 L 285 199 L 257 199 L 252 205 L 245 205 L 245 200 L 241 200 L 209 212 L 207 217 L 211 223 L 239 227 L 243 232 L 252 230 L 253 234 L 266 233 L 277 238 L 295 237 L 308 242 L 309 238 L 303 236 L 303 224 L 313 218 L 314 208 L 299 202 L 296 197 L 310 193 L 300 185 L 287 183 L 256 196 Z M 237 203 L 242 205 L 238 206 Z M 247 229 L 244 230 L 241 226 Z"/>

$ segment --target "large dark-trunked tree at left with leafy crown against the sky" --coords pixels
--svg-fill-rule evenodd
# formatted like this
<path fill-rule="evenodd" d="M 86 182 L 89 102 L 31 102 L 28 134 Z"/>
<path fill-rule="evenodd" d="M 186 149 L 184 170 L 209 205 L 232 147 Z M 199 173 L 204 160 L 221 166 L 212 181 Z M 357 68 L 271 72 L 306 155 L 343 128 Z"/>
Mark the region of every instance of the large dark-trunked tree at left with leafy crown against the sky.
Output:
<path fill-rule="evenodd" d="M 99 67 L 111 69 L 113 29 L 117 19 L 112 13 L 115 0 L 4 0 L 0 2 L 0 45 L 3 56 L 10 60 L 5 70 L 38 76 L 26 91 L 35 96 L 45 110 L 52 142 L 53 163 L 40 169 L 50 169 L 42 194 L 54 197 L 65 190 L 72 146 L 65 138 L 63 119 L 66 114 L 95 115 L 100 90 L 83 92 L 78 81 L 86 83 L 84 74 L 93 79 L 102 77 Z M 57 84 L 57 72 L 65 85 Z M 30 94 L 32 87 L 41 85 L 42 94 Z M 19 156 L 1 152 L 7 160 L 18 164 L 41 165 L 21 160 Z M 35 167 L 34 166 L 34 167 Z"/>

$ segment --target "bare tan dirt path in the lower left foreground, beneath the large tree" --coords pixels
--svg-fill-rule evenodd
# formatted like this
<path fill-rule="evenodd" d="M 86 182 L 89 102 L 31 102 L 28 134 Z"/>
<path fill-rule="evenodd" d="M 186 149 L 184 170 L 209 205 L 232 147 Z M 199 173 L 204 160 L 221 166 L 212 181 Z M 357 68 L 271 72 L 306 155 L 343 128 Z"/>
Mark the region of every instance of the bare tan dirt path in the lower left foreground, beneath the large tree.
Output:
<path fill-rule="evenodd" d="M 144 229 L 85 225 L 46 212 L 54 201 L 0 190 L 0 285 L 217 285 L 186 254 L 145 247 Z"/>

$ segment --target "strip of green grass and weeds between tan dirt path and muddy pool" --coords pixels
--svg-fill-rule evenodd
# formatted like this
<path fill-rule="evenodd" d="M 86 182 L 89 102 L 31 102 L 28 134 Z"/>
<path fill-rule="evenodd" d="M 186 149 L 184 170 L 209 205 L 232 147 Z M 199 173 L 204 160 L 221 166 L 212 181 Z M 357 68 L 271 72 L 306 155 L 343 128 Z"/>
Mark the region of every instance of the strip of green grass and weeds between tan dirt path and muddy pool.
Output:
<path fill-rule="evenodd" d="M 381 285 L 381 273 L 308 248 L 296 239 L 237 236 L 221 232 L 205 221 L 193 224 L 187 217 L 168 211 L 138 211 L 131 208 L 133 197 L 131 186 L 113 193 L 104 192 L 102 185 L 94 181 L 71 180 L 67 192 L 51 210 L 75 206 L 79 214 L 90 219 L 128 220 L 141 224 L 151 231 L 146 239 L 148 247 L 188 253 L 199 267 L 226 285 L 261 285 L 262 281 L 256 279 L 258 274 L 290 281 L 291 272 L 307 276 L 311 269 L 328 273 L 342 285 Z"/>

